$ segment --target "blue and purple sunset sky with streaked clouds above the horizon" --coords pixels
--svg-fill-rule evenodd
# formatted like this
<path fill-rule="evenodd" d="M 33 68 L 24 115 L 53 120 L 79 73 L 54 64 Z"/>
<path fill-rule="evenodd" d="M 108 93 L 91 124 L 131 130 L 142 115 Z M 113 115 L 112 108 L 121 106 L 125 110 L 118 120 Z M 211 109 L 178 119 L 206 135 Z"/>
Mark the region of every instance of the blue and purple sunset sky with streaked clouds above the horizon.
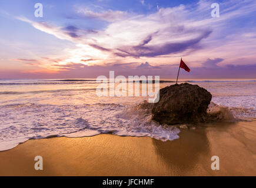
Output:
<path fill-rule="evenodd" d="M 181 78 L 256 78 L 255 18 L 255 0 L 0 0 L 0 78 L 175 78 L 181 57 Z"/>

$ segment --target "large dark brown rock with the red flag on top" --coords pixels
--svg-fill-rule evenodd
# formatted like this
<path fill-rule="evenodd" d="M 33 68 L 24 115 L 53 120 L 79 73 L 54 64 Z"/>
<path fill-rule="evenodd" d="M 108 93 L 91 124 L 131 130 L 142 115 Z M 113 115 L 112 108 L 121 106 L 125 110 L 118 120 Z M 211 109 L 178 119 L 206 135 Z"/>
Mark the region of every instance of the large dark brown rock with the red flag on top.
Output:
<path fill-rule="evenodd" d="M 159 101 L 154 103 L 152 117 L 159 123 L 205 122 L 212 95 L 204 88 L 189 83 L 168 86 L 159 90 Z"/>

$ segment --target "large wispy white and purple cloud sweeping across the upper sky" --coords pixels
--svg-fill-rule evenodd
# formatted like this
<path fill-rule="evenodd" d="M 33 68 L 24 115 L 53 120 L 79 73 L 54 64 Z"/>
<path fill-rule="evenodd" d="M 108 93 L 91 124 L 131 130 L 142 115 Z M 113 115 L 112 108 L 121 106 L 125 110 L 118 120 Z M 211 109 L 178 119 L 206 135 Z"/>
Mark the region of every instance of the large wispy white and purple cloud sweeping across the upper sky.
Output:
<path fill-rule="evenodd" d="M 169 19 L 176 11 L 182 9 L 184 8 L 166 8 L 151 15 L 130 16 L 127 19 L 119 16 L 117 11 L 107 11 L 111 16 L 117 14 L 118 19 L 122 20 L 112 19 L 115 22 L 109 24 L 104 31 L 95 32 L 87 32 L 72 25 L 59 27 L 45 22 L 29 21 L 26 18 L 19 19 L 32 24 L 36 29 L 55 35 L 57 38 L 109 52 L 110 56 L 141 58 L 169 55 L 186 51 L 189 48 L 195 49 L 198 48 L 195 46 L 197 43 L 210 35 L 210 29 L 188 28 L 178 24 L 178 20 Z M 104 14 L 88 12 L 91 16 L 111 18 L 111 16 L 105 15 L 106 12 Z"/>

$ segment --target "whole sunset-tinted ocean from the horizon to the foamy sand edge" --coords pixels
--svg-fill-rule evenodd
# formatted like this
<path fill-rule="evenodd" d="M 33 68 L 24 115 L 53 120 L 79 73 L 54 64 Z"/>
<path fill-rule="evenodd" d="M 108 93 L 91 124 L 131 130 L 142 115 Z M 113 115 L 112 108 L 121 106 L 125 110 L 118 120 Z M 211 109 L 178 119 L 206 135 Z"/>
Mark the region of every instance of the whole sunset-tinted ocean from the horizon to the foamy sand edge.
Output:
<path fill-rule="evenodd" d="M 174 84 L 162 79 L 160 88 Z M 212 93 L 236 119 L 256 117 L 255 79 L 181 79 Z M 151 119 L 147 96 L 97 96 L 95 79 L 0 79 L 0 151 L 29 139 L 101 133 L 178 139 L 176 126 Z M 145 83 L 141 83 L 143 85 Z"/>

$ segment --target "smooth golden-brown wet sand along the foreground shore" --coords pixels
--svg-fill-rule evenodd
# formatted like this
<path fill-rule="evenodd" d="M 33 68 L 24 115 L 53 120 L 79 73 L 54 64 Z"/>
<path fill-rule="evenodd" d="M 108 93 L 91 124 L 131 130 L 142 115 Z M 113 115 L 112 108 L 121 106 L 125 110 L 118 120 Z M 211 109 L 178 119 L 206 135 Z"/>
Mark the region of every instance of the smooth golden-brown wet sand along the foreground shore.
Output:
<path fill-rule="evenodd" d="M 28 140 L 0 152 L 1 176 L 255 176 L 256 120 L 185 129 L 180 138 L 93 137 Z M 42 156 L 44 170 L 34 169 Z M 211 170 L 211 157 L 220 170 Z"/>

